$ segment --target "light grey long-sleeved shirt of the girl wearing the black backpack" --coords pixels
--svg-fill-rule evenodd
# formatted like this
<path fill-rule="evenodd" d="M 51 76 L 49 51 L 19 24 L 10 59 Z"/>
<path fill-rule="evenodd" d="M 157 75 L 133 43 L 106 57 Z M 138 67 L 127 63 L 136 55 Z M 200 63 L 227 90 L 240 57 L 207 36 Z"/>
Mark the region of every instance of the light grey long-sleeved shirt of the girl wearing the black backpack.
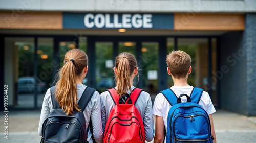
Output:
<path fill-rule="evenodd" d="M 86 89 L 86 85 L 77 84 L 77 98 L 80 99 L 84 89 Z M 78 100 L 77 100 L 78 103 Z M 47 90 L 44 102 L 42 103 L 42 110 L 40 116 L 40 122 L 38 126 L 38 133 L 41 136 L 42 124 L 49 116 L 50 112 L 52 112 L 52 100 L 51 100 L 51 92 L 50 88 Z M 90 102 L 88 103 L 86 109 L 83 111 L 84 117 L 86 118 L 86 127 L 89 127 L 90 117 L 92 118 L 92 125 L 93 125 L 93 136 L 96 142 L 103 142 L 103 130 L 102 130 L 102 123 L 101 123 L 101 115 L 100 115 L 100 96 L 99 92 L 95 91 Z M 89 143 L 93 143 L 91 139 L 92 133 L 89 128 L 87 140 Z"/>

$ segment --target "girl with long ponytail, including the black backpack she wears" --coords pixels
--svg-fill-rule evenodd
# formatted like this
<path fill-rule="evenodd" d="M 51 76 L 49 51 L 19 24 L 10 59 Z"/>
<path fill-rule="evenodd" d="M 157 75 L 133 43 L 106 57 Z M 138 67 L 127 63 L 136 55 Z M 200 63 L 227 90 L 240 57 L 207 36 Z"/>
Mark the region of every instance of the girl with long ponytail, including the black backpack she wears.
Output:
<path fill-rule="evenodd" d="M 38 127 L 41 142 L 102 142 L 99 93 L 82 84 L 87 71 L 86 53 L 79 49 L 66 53 L 64 65 L 58 73 L 58 82 L 47 90 L 42 104 Z M 76 120 L 79 122 L 75 123 Z M 82 135 L 73 131 L 74 128 L 78 128 Z M 52 133 L 54 130 L 57 131 Z"/>

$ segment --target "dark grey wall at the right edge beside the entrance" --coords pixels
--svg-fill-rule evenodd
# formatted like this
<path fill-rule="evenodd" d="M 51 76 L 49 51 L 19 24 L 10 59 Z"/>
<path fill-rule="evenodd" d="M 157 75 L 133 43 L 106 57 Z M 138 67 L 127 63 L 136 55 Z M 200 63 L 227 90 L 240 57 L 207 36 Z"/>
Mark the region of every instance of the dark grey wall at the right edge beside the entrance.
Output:
<path fill-rule="evenodd" d="M 245 31 L 221 36 L 221 102 L 223 109 L 256 116 L 256 14 L 245 17 Z"/>

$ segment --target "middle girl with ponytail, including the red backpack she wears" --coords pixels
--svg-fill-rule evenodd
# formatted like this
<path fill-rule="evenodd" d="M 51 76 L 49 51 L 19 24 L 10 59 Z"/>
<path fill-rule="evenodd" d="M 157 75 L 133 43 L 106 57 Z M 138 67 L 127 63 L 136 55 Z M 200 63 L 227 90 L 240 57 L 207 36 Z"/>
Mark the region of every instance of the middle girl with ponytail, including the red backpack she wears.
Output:
<path fill-rule="evenodd" d="M 152 102 L 150 94 L 133 86 L 133 79 L 135 75 L 138 76 L 135 57 L 131 53 L 120 53 L 116 57 L 114 72 L 116 87 L 108 89 L 100 95 L 102 126 L 105 132 L 104 142 L 145 142 L 145 140 L 150 142 L 154 137 Z M 133 113 L 130 114 L 130 111 L 127 110 L 130 110 L 132 106 L 137 108 L 135 112 L 138 111 L 139 117 L 130 116 Z M 124 111 L 125 109 L 127 110 Z M 120 112 L 113 113 L 118 110 L 122 110 L 123 113 L 126 112 L 127 115 L 123 116 L 126 113 Z M 119 124 L 116 124 L 117 122 Z M 133 129 L 137 126 L 134 124 L 135 122 L 138 123 L 139 127 L 144 128 L 139 129 L 140 131 Z M 129 127 L 130 125 L 131 127 Z M 116 131 L 113 131 L 115 128 Z M 132 137 L 134 132 L 139 135 L 137 139 Z"/>

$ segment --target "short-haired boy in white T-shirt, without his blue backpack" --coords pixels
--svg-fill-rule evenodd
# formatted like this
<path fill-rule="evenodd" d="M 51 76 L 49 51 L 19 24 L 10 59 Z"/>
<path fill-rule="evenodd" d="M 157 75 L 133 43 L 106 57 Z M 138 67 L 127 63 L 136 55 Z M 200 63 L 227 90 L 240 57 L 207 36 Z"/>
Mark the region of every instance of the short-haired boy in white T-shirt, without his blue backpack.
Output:
<path fill-rule="evenodd" d="M 167 72 L 172 76 L 174 81 L 174 86 L 170 87 L 174 91 L 177 98 L 180 94 L 190 95 L 193 90 L 193 86 L 188 85 L 187 78 L 191 73 L 192 67 L 190 56 L 184 51 L 172 51 L 166 57 L 167 62 Z M 181 102 L 186 102 L 186 97 L 181 97 Z M 214 142 L 216 143 L 214 124 L 212 120 L 212 113 L 216 112 L 214 106 L 212 105 L 209 94 L 203 91 L 202 97 L 198 103 L 209 115 L 210 124 L 211 124 L 211 134 L 215 138 Z M 162 143 L 164 140 L 164 128 L 167 130 L 167 117 L 170 107 L 172 107 L 167 99 L 162 93 L 157 94 L 154 107 L 153 115 L 156 116 L 156 130 L 154 143 Z M 166 143 L 166 137 L 165 141 Z"/>

